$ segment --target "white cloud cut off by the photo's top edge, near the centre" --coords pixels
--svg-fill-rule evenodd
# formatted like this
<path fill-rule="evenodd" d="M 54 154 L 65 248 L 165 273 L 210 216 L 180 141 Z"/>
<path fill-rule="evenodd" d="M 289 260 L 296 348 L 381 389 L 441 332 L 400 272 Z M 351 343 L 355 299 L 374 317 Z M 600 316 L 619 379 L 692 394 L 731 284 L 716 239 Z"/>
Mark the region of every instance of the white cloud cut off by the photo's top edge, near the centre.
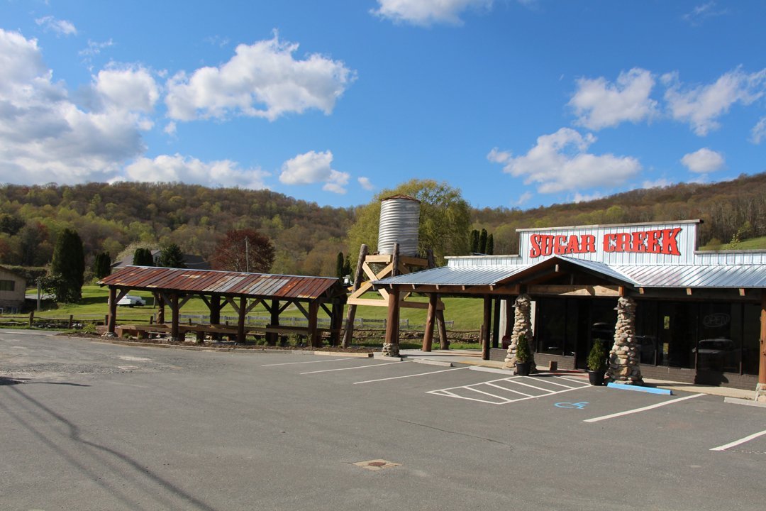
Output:
<path fill-rule="evenodd" d="M 493 0 L 378 0 L 380 7 L 372 13 L 412 25 L 461 25 L 460 13 L 469 8 L 489 10 L 492 3 Z"/>

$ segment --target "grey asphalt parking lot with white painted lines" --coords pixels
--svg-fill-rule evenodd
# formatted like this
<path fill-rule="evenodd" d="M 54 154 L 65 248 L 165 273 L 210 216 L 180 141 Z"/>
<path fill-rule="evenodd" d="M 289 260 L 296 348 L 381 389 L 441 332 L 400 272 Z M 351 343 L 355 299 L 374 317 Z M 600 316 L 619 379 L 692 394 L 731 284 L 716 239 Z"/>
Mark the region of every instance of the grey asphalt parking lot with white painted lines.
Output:
<path fill-rule="evenodd" d="M 2 509 L 763 509 L 766 408 L 0 330 Z"/>

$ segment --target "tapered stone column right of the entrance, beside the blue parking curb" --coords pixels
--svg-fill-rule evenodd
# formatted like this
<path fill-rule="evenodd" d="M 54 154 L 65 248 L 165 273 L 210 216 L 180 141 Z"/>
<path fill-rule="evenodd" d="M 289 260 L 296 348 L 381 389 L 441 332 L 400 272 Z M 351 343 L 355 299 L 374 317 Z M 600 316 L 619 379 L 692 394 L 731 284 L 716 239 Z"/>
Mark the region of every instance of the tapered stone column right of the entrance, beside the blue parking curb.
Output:
<path fill-rule="evenodd" d="M 617 324 L 614 346 L 609 352 L 607 378 L 626 385 L 643 385 L 640 351 L 636 342 L 636 301 L 620 296 L 617 300 Z"/>

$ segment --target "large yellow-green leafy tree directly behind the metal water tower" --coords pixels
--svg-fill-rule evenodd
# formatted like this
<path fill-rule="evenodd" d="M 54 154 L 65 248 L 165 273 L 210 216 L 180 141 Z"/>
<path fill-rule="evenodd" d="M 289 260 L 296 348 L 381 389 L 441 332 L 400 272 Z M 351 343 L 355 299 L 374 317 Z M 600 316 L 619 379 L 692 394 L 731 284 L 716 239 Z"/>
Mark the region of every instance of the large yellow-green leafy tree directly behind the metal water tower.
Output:
<path fill-rule="evenodd" d="M 460 189 L 432 179 L 412 179 L 391 190 L 383 190 L 368 205 L 357 208 L 356 221 L 349 230 L 349 247 L 358 251 L 361 244 L 366 244 L 371 252 L 377 249 L 380 201 L 391 195 L 409 195 L 421 201 L 418 230 L 421 254 L 430 248 L 440 262 L 446 255 L 468 254 L 470 244 L 466 232 L 471 225 L 470 206 Z"/>

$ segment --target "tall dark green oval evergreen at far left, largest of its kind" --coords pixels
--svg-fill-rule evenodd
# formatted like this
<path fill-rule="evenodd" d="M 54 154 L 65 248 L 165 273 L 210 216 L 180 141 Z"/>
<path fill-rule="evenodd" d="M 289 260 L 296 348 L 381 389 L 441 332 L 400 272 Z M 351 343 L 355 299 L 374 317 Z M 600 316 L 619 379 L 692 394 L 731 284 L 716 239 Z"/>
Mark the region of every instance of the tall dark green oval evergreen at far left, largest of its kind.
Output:
<path fill-rule="evenodd" d="M 56 300 L 75 303 L 82 296 L 85 283 L 85 255 L 80 234 L 72 229 L 64 229 L 58 235 L 51 261 L 51 275 L 57 280 Z"/>

